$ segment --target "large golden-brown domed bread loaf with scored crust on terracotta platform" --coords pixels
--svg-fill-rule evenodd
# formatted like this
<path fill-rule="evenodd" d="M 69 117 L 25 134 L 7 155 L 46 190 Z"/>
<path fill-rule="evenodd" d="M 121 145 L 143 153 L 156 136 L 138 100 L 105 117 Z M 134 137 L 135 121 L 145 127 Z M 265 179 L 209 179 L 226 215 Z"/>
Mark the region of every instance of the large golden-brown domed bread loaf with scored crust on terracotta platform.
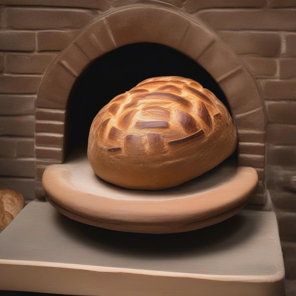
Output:
<path fill-rule="evenodd" d="M 107 182 L 164 189 L 231 155 L 237 132 L 226 107 L 188 78 L 155 77 L 112 99 L 94 118 L 88 158 Z"/>

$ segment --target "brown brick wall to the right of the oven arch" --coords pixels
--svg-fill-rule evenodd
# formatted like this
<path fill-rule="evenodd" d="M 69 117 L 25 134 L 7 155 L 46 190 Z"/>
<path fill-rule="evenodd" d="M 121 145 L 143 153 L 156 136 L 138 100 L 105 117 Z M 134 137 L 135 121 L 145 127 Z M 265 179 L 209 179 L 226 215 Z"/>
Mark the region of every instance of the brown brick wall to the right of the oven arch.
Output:
<path fill-rule="evenodd" d="M 289 295 L 296 277 L 296 1 L 192 12 L 238 54 L 264 98 L 267 188 L 279 221 Z"/>

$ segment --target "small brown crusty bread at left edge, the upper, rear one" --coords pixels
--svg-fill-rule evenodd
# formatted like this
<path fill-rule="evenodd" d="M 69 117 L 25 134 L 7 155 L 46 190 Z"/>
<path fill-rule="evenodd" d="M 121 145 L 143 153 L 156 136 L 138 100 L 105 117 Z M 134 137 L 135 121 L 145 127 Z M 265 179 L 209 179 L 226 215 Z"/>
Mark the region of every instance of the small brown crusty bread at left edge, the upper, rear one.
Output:
<path fill-rule="evenodd" d="M 9 213 L 13 218 L 24 207 L 22 194 L 12 189 L 0 189 L 0 200 L 3 203 L 5 212 Z"/>

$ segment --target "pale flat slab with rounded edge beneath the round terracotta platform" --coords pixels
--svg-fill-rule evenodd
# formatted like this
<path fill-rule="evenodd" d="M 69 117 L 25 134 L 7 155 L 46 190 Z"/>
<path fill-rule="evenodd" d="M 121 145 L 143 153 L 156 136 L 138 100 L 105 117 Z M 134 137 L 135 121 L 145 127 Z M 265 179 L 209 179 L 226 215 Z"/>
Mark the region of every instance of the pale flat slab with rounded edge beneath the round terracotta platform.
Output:
<path fill-rule="evenodd" d="M 97 296 L 284 295 L 273 212 L 177 234 L 112 231 L 30 202 L 0 234 L 0 290 Z"/>

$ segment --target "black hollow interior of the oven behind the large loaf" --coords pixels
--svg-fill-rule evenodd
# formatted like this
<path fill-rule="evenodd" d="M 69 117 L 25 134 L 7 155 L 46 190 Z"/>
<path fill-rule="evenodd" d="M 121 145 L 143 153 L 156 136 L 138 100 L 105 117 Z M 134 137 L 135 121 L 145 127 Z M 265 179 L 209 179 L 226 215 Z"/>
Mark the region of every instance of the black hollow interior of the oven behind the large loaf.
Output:
<path fill-rule="evenodd" d="M 191 78 L 212 91 L 231 113 L 223 91 L 197 62 L 161 44 L 129 44 L 95 59 L 77 78 L 67 106 L 66 157 L 78 147 L 86 151 L 91 122 L 105 104 L 157 76 Z M 237 159 L 236 153 L 232 158 Z"/>

